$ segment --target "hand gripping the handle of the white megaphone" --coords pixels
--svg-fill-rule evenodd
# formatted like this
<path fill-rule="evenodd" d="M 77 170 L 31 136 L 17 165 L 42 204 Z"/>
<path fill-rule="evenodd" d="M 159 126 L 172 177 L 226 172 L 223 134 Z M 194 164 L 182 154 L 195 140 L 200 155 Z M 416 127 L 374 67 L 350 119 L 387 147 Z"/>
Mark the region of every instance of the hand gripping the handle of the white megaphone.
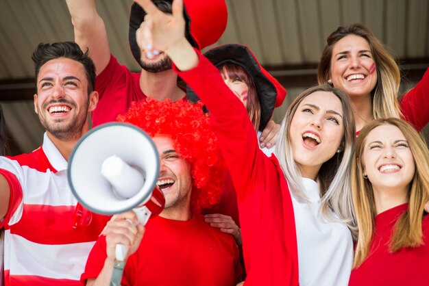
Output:
<path fill-rule="evenodd" d="M 117 244 L 128 248 L 125 260 L 130 257 L 140 246 L 141 239 L 145 233 L 145 226 L 138 222 L 134 211 L 127 211 L 114 215 L 107 223 L 102 235 L 106 235 L 106 252 L 108 259 L 116 259 L 115 249 Z"/>

